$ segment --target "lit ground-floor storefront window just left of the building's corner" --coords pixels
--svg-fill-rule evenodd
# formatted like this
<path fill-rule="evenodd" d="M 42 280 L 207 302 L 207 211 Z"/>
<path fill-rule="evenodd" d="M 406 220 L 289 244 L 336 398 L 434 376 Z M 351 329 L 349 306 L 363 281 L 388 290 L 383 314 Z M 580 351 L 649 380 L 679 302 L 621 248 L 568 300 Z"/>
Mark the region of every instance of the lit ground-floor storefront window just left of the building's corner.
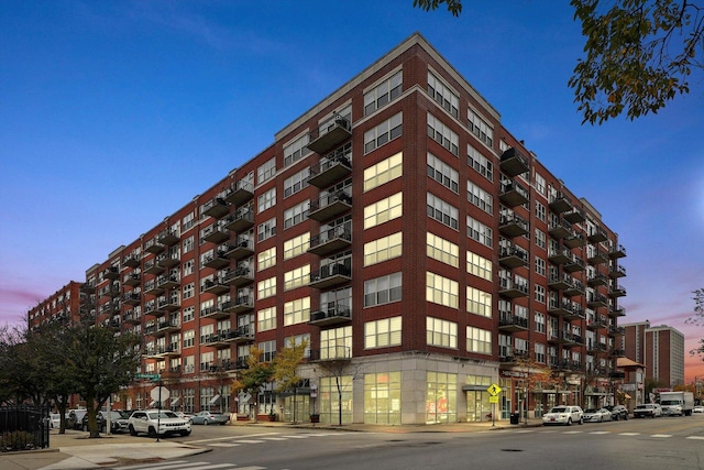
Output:
<path fill-rule="evenodd" d="M 400 424 L 400 372 L 364 374 L 364 423 Z"/>

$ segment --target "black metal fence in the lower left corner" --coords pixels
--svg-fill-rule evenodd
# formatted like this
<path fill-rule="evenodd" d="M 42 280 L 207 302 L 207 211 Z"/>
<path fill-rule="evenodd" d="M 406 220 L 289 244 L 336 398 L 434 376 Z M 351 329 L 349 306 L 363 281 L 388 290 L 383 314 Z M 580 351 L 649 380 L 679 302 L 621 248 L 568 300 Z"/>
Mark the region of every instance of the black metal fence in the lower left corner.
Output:
<path fill-rule="evenodd" d="M 0 452 L 48 447 L 48 406 L 0 406 Z"/>

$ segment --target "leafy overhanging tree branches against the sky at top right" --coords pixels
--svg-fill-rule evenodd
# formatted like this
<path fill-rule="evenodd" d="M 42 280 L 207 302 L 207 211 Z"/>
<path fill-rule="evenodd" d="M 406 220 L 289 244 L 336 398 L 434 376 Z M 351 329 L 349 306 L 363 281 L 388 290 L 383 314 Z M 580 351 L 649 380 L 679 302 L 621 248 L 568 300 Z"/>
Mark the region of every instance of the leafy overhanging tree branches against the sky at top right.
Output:
<path fill-rule="evenodd" d="M 462 0 L 414 0 L 454 17 Z M 630 120 L 656 113 L 690 91 L 693 68 L 704 69 L 704 4 L 690 0 L 571 0 L 582 24 L 585 57 L 568 85 L 584 122 L 601 124 L 623 112 Z M 697 53 L 700 56 L 697 57 Z"/>

